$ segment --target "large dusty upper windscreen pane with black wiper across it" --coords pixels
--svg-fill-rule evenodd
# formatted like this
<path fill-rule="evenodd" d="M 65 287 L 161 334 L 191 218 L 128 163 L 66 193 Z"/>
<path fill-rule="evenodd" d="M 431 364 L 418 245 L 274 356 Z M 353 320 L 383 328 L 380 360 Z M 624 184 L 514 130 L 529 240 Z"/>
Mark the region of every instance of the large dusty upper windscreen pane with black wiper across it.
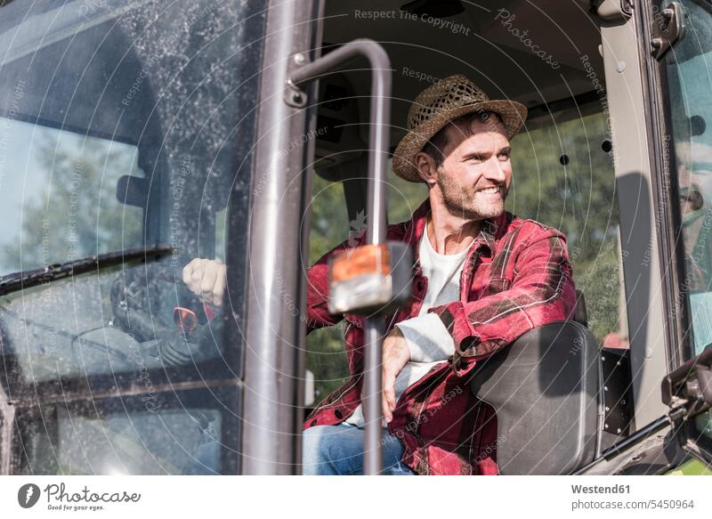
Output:
<path fill-rule="evenodd" d="M 220 309 L 183 286 L 182 267 L 224 256 L 227 195 L 233 185 L 247 192 L 236 71 L 255 56 L 232 52 L 239 17 L 227 20 L 227 4 L 221 16 L 208 2 L 86 5 L 3 8 L 0 139 L 12 174 L 0 268 L 8 279 L 141 247 L 170 254 L 100 263 L 71 281 L 48 274 L 7 295 L 4 353 L 25 382 L 221 357 Z M 176 325 L 176 309 L 190 327 Z"/>

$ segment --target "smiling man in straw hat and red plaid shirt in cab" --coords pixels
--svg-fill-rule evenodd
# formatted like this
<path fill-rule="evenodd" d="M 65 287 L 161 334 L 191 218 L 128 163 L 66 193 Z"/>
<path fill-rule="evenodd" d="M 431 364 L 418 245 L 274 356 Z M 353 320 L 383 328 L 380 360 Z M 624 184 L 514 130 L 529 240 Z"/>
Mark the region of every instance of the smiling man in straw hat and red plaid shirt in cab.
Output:
<path fill-rule="evenodd" d="M 411 301 L 386 320 L 384 474 L 497 474 L 494 412 L 474 398 L 468 377 L 477 361 L 575 310 L 562 233 L 504 210 L 509 139 L 525 118 L 520 103 L 490 101 L 460 75 L 425 89 L 409 110 L 393 171 L 425 182 L 428 199 L 387 233 L 409 243 L 416 264 Z M 363 318 L 332 315 L 327 300 L 329 256 L 364 234 L 309 270 L 309 331 L 347 321 L 351 377 L 304 422 L 304 474 L 362 472 Z M 224 286 L 211 265 L 194 260 L 184 272 L 206 298 Z"/>

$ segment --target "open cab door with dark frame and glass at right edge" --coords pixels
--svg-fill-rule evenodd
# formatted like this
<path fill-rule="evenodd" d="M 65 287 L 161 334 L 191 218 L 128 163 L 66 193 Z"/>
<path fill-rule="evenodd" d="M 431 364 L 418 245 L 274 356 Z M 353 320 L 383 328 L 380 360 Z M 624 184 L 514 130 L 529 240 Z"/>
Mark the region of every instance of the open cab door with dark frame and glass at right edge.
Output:
<path fill-rule="evenodd" d="M 659 204 L 675 280 L 670 368 L 712 347 L 712 4 L 652 2 L 643 12 L 657 124 Z M 645 37 L 645 35 L 643 35 Z M 712 415 L 676 428 L 683 446 L 712 459 Z"/>

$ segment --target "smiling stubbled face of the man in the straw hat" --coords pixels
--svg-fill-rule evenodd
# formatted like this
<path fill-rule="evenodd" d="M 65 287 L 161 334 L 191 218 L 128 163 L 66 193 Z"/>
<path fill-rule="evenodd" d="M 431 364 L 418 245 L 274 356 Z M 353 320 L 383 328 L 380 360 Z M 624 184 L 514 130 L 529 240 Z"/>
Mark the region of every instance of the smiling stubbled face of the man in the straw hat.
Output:
<path fill-rule="evenodd" d="M 469 126 L 469 127 L 468 127 Z M 449 126 L 437 184 L 449 213 L 467 220 L 501 215 L 512 183 L 509 139 L 497 117 Z"/>

